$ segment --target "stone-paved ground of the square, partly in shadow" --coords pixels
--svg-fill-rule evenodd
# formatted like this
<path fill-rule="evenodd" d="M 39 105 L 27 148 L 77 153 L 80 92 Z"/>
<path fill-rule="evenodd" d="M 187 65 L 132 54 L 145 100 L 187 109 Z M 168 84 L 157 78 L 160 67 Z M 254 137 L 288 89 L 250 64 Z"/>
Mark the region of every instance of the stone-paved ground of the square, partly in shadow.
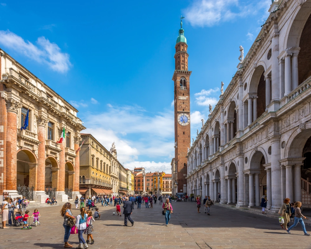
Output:
<path fill-rule="evenodd" d="M 133 210 L 132 227 L 123 227 L 124 217 L 113 215 L 113 206 L 101 207 L 101 219 L 94 223 L 95 244 L 99 248 L 311 248 L 311 236 L 304 236 L 300 224 L 292 234 L 282 230 L 278 220 L 249 214 L 221 206 L 212 206 L 211 215 L 197 213 L 195 203 L 173 202 L 174 212 L 169 226 L 165 226 L 162 205 Z M 17 227 L 0 229 L 0 248 L 63 248 L 63 218 L 61 206 L 39 209 L 41 225 L 31 230 Z M 122 207 L 121 207 L 122 210 Z M 33 213 L 33 210 L 30 210 Z M 77 216 L 78 210 L 73 210 Z M 311 228 L 306 227 L 309 232 Z M 86 236 L 86 235 L 85 235 Z M 78 245 L 72 234 L 69 242 Z"/>

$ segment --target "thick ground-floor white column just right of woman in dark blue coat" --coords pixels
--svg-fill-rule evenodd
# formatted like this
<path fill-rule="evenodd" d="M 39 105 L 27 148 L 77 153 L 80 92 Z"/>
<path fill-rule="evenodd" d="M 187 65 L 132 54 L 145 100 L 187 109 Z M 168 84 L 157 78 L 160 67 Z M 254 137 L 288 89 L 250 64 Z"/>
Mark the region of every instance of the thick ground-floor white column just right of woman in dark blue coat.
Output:
<path fill-rule="evenodd" d="M 272 210 L 279 211 L 281 199 L 280 138 L 271 137 Z M 296 201 L 296 200 L 295 200 Z"/>

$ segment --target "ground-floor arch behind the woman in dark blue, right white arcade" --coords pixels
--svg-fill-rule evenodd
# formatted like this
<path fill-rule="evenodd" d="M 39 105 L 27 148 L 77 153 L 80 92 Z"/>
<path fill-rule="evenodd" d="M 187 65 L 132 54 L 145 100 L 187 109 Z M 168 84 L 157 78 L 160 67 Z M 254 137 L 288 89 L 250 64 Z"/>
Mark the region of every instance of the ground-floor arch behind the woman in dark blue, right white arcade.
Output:
<path fill-rule="evenodd" d="M 262 166 L 263 164 L 266 164 L 264 155 L 261 151 L 256 151 L 249 164 L 249 206 L 259 206 L 261 196 L 267 196 L 267 174 Z"/>

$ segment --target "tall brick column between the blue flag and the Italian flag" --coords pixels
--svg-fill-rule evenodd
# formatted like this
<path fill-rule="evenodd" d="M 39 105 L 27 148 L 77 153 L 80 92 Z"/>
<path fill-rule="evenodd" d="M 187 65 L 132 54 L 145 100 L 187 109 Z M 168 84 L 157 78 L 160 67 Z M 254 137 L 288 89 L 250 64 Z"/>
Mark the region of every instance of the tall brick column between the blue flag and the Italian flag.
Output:
<path fill-rule="evenodd" d="M 45 200 L 49 197 L 45 194 L 45 126 L 48 122 L 45 116 L 37 116 L 38 126 L 38 170 L 37 170 L 37 189 L 35 191 L 35 200 L 40 203 L 45 203 Z M 53 179 L 53 173 L 52 173 Z"/>

